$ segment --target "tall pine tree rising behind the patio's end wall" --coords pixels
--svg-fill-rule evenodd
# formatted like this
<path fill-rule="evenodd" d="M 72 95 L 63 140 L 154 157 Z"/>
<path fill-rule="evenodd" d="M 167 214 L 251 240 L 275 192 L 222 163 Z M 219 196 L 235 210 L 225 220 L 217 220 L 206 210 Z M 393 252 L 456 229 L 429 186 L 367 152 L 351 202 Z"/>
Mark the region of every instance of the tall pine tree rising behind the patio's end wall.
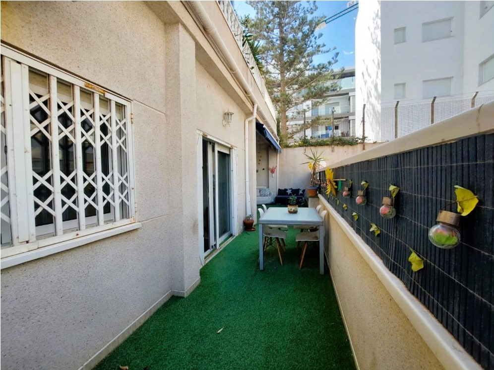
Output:
<path fill-rule="evenodd" d="M 333 75 L 338 53 L 327 63 L 313 63 L 314 56 L 335 49 L 326 49 L 317 41 L 322 34 L 315 34 L 315 27 L 324 17 L 313 16 L 317 10 L 315 1 L 307 1 L 307 5 L 301 1 L 247 3 L 256 12 L 249 31 L 260 42 L 266 87 L 280 115 L 283 139 L 287 134 L 290 108 L 313 99 L 321 99 L 322 103 L 326 93 L 338 89 L 339 75 Z"/>

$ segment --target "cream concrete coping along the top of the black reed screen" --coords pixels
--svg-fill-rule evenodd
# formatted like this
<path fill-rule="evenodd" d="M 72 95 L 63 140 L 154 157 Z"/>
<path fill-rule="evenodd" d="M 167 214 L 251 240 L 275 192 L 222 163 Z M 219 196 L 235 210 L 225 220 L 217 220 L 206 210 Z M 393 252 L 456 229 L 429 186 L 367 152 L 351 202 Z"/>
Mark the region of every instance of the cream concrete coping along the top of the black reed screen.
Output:
<path fill-rule="evenodd" d="M 346 166 L 348 164 L 402 153 L 413 149 L 455 142 L 469 136 L 488 134 L 494 131 L 493 117 L 494 102 L 486 103 L 480 107 L 470 109 L 457 116 L 402 136 L 401 138 L 381 144 L 378 147 L 364 150 L 359 154 L 332 164 L 331 168 Z M 475 122 L 475 125 L 469 126 L 466 125 L 465 122 Z"/>

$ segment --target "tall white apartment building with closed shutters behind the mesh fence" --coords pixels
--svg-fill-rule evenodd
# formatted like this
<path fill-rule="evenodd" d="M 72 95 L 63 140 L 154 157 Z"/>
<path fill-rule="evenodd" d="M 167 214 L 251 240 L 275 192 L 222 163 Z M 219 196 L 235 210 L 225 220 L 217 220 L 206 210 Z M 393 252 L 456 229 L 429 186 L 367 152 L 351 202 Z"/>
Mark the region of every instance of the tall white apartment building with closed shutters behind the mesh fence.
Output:
<path fill-rule="evenodd" d="M 356 131 L 387 141 L 493 100 L 493 5 L 360 2 Z"/>

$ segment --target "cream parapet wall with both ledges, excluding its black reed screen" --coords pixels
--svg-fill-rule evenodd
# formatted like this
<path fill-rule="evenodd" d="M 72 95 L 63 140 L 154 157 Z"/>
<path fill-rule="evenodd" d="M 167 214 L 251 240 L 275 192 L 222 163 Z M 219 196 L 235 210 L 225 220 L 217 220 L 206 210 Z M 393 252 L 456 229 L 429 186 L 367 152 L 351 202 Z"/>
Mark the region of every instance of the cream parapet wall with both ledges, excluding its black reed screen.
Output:
<path fill-rule="evenodd" d="M 493 117 L 494 103 L 485 104 L 330 167 L 491 133 Z M 480 370 L 480 365 L 321 195 L 319 204 L 329 211 L 326 258 L 358 368 Z"/>

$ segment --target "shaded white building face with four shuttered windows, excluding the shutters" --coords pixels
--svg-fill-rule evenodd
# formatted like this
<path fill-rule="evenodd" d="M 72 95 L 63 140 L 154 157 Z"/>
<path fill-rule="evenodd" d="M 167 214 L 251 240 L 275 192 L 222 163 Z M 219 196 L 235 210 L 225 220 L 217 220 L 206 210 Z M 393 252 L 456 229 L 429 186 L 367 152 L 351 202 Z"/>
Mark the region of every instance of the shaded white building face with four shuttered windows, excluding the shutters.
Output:
<path fill-rule="evenodd" d="M 395 102 L 394 84 L 406 98 L 422 99 L 422 81 L 453 77 L 451 93 L 463 92 L 463 1 L 381 1 L 381 103 Z M 422 42 L 422 23 L 453 18 L 451 37 Z M 394 29 L 406 42 L 394 44 Z"/>

